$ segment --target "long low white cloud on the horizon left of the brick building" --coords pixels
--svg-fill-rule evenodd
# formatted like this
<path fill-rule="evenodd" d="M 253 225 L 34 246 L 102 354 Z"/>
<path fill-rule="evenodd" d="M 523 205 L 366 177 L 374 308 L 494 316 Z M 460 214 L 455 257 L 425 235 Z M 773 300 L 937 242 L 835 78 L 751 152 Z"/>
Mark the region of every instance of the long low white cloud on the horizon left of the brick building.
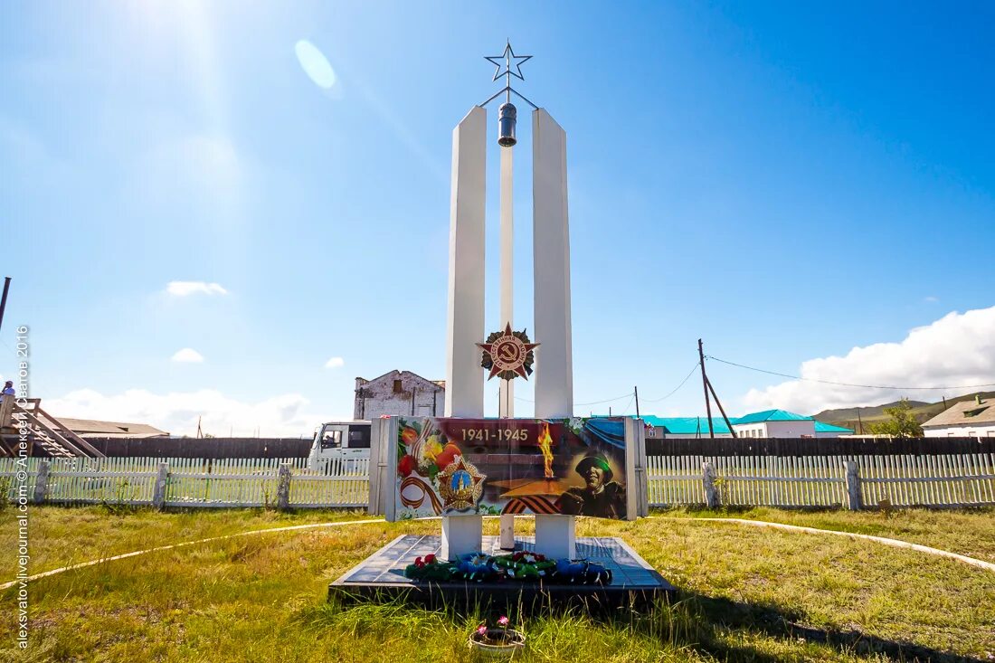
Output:
<path fill-rule="evenodd" d="M 218 437 L 254 436 L 257 430 L 261 437 L 308 437 L 315 425 L 330 420 L 306 412 L 309 401 L 299 393 L 244 402 L 211 389 L 165 394 L 129 389 L 113 395 L 80 389 L 46 403 L 57 417 L 146 423 L 173 435 L 196 434 L 201 418 L 204 432 Z"/>

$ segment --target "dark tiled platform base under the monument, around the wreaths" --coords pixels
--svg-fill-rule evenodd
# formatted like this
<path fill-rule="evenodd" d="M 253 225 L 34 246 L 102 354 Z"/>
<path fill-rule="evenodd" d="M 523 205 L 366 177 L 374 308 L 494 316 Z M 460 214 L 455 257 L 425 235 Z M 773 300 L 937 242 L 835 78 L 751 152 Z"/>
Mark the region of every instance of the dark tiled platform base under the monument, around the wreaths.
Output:
<path fill-rule="evenodd" d="M 531 551 L 531 537 L 515 540 L 515 550 Z M 351 601 L 391 601 L 457 609 L 480 604 L 524 609 L 584 605 L 591 610 L 647 606 L 658 599 L 673 600 L 674 585 L 653 569 L 624 541 L 615 537 L 580 537 L 577 557 L 605 565 L 612 571 L 609 584 L 553 584 L 503 580 L 499 582 L 428 582 L 404 576 L 416 557 L 439 554 L 438 536 L 402 535 L 328 585 L 328 598 Z M 499 537 L 483 538 L 484 552 L 502 554 Z"/>

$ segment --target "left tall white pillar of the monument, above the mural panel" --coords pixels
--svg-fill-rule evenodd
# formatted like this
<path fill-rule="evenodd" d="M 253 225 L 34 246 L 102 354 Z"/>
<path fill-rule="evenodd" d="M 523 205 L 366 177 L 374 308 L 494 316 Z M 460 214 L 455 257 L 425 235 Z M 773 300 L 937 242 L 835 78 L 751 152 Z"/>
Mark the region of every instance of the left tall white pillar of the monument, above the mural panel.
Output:
<path fill-rule="evenodd" d="M 484 340 L 486 155 L 487 111 L 474 107 L 453 129 L 447 417 L 484 416 L 484 369 L 481 368 L 481 350 L 476 343 Z"/>

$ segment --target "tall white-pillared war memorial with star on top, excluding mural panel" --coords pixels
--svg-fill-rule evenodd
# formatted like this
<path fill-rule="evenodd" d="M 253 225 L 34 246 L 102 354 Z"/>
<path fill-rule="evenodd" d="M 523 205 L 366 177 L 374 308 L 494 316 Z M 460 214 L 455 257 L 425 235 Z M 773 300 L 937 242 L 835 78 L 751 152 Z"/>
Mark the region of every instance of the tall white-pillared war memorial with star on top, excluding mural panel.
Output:
<path fill-rule="evenodd" d="M 447 417 L 484 416 L 484 375 L 479 341 L 485 337 L 485 208 L 487 191 L 487 110 L 499 97 L 500 145 L 500 316 L 510 330 L 513 316 L 513 150 L 515 95 L 532 107 L 532 246 L 535 340 L 541 344 L 535 367 L 535 412 L 542 419 L 573 415 L 570 332 L 570 241 L 567 214 L 566 132 L 548 111 L 511 87 L 524 81 L 520 66 L 531 56 L 515 56 L 506 44 L 494 80 L 505 86 L 474 107 L 453 131 L 450 204 L 449 304 L 446 371 Z M 524 373 L 522 373 L 524 374 Z M 511 379 L 502 378 L 498 416 L 514 416 Z M 513 517 L 501 517 L 501 545 L 513 545 Z M 574 556 L 572 516 L 537 515 L 536 549 L 555 557 Z M 443 554 L 476 550 L 481 517 L 443 518 Z"/>

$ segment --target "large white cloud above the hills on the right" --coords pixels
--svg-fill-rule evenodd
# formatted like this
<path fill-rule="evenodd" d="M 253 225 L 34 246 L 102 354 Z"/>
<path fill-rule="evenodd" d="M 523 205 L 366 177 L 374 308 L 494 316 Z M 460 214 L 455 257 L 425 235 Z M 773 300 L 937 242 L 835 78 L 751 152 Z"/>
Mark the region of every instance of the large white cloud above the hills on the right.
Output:
<path fill-rule="evenodd" d="M 900 342 L 855 347 L 846 356 L 810 359 L 801 377 L 851 384 L 963 386 L 959 389 L 875 389 L 790 380 L 743 397 L 751 410 L 778 407 L 812 414 L 827 408 L 879 405 L 908 397 L 937 400 L 995 383 L 995 307 L 950 313 L 908 332 Z"/>

